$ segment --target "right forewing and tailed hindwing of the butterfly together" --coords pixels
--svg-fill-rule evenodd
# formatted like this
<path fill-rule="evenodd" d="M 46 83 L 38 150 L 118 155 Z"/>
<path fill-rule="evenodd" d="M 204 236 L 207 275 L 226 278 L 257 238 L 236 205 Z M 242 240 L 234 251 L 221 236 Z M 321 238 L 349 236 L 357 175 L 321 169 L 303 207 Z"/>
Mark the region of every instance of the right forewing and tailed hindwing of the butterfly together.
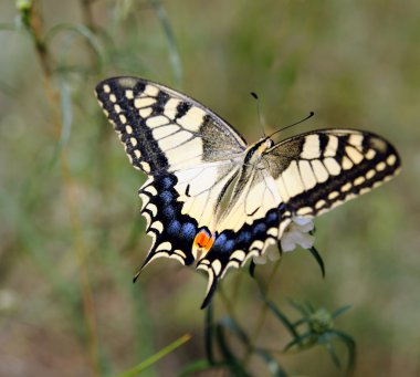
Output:
<path fill-rule="evenodd" d="M 353 129 L 301 134 L 266 150 L 261 166 L 243 166 L 233 201 L 212 249 L 198 268 L 209 292 L 228 268 L 239 268 L 276 242 L 293 217 L 315 217 L 370 191 L 400 169 L 384 138 Z M 203 306 L 208 304 L 208 295 Z"/>

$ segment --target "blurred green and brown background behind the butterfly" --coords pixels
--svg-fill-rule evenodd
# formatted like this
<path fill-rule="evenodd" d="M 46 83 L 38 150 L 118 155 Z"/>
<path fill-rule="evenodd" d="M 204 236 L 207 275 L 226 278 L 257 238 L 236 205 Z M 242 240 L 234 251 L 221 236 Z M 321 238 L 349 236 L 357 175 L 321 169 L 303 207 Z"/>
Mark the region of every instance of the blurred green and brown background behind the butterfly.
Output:
<path fill-rule="evenodd" d="M 337 326 L 357 342 L 355 375 L 420 375 L 420 2 L 44 0 L 36 14 L 38 36 L 13 1 L 0 3 L 1 376 L 112 376 L 187 333 L 144 375 L 204 357 L 206 280 L 161 260 L 132 284 L 149 247 L 136 195 L 145 177 L 93 94 L 128 74 L 183 91 L 249 142 L 261 134 L 253 91 L 267 130 L 315 112 L 283 137 L 354 127 L 396 145 L 397 179 L 316 220 L 326 279 L 307 253 L 287 254 L 271 297 L 292 315 L 288 297 L 353 305 Z M 252 329 L 261 302 L 246 271 L 223 290 L 238 274 L 234 311 Z M 273 321 L 259 338 L 288 341 Z M 322 348 L 280 360 L 295 376 L 343 374 Z"/>

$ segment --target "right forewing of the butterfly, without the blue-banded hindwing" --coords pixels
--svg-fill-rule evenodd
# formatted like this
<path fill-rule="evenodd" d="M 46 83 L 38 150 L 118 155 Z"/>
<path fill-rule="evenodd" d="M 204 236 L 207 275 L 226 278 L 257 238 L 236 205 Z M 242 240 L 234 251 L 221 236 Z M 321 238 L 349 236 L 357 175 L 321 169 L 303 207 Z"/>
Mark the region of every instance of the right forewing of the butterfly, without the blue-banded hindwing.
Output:
<path fill-rule="evenodd" d="M 368 192 L 400 167 L 388 142 L 356 129 L 297 135 L 267 150 L 263 161 L 296 217 L 314 217 Z"/>

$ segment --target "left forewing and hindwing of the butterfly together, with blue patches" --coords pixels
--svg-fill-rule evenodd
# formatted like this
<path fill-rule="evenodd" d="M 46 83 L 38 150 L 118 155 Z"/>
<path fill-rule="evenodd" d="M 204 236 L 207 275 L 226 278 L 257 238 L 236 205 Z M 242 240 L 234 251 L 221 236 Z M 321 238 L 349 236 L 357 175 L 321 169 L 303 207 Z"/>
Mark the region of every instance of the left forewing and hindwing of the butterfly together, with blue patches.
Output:
<path fill-rule="evenodd" d="M 148 175 L 139 189 L 154 238 L 145 264 L 159 256 L 192 263 L 195 238 L 213 227 L 245 140 L 200 103 L 146 80 L 108 78 L 96 96 L 130 163 Z"/>

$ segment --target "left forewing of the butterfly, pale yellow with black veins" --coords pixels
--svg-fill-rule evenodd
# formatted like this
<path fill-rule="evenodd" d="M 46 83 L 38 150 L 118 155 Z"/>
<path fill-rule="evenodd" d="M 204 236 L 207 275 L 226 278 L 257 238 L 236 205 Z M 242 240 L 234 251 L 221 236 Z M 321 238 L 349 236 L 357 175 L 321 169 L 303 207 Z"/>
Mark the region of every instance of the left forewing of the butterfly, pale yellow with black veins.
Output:
<path fill-rule="evenodd" d="M 211 111 L 162 85 L 116 77 L 99 83 L 96 95 L 132 164 L 147 174 L 229 160 L 246 147 Z"/>

